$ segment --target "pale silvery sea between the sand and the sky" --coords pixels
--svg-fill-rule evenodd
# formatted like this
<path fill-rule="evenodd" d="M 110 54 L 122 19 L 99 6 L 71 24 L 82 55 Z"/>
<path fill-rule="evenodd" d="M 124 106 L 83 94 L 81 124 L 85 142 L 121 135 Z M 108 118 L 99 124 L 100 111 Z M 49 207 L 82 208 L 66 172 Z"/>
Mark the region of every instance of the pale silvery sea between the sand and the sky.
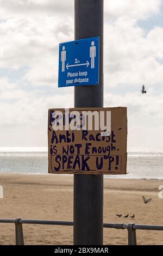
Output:
<path fill-rule="evenodd" d="M 0 147 L 0 173 L 47 174 L 47 148 Z M 163 180 L 163 149 L 129 148 L 127 175 L 104 176 Z"/>

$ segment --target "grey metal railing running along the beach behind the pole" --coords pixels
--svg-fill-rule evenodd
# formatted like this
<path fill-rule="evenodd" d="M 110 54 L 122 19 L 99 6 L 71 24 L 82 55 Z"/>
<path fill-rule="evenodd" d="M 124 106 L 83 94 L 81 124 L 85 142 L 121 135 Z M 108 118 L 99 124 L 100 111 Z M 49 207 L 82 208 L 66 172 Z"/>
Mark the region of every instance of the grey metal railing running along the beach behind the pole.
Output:
<path fill-rule="evenodd" d="M 42 224 L 42 225 L 66 225 L 73 226 L 73 222 L 68 221 L 42 221 L 42 220 L 22 220 L 16 219 L 0 219 L 0 223 L 15 223 L 15 240 L 16 245 L 24 245 L 23 225 L 22 224 Z M 115 224 L 104 223 L 104 228 L 127 229 L 128 245 L 137 245 L 136 230 L 162 230 L 163 225 L 137 225 L 135 223 Z"/>

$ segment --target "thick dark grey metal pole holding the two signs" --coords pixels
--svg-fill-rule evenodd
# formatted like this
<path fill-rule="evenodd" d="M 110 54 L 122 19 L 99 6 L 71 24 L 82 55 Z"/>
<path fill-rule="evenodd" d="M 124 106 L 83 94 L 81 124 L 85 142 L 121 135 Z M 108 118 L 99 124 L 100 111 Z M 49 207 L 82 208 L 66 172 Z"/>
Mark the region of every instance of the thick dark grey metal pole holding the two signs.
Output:
<path fill-rule="evenodd" d="M 75 39 L 100 37 L 98 86 L 74 87 L 74 107 L 103 107 L 103 0 L 74 0 Z M 74 245 L 103 245 L 103 175 L 74 175 Z"/>

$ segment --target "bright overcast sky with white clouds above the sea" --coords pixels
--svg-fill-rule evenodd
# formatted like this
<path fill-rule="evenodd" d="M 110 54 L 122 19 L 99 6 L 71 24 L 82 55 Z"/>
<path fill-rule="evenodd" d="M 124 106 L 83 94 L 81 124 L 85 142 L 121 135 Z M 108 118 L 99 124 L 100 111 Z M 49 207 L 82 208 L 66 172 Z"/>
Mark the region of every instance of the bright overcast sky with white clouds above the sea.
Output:
<path fill-rule="evenodd" d="M 73 107 L 57 84 L 73 2 L 0 0 L 0 146 L 46 147 L 48 108 Z M 104 105 L 128 107 L 130 148 L 163 148 L 162 2 L 104 0 Z"/>

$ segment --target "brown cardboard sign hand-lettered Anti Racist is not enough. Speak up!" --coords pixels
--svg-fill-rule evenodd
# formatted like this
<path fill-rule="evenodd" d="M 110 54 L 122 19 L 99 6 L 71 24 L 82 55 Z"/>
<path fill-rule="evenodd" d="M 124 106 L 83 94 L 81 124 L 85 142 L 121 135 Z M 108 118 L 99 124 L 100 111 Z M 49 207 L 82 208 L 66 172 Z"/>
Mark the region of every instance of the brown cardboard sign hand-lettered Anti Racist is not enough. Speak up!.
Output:
<path fill-rule="evenodd" d="M 126 166 L 127 108 L 49 109 L 49 173 L 126 174 Z"/>

